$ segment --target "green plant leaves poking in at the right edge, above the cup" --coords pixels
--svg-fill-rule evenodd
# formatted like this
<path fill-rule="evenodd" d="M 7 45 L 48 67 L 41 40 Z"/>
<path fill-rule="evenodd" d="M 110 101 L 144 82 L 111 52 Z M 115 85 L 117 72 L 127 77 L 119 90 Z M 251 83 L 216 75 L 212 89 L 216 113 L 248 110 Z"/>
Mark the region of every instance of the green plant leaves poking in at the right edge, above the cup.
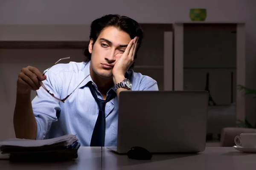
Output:
<path fill-rule="evenodd" d="M 247 88 L 243 85 L 238 85 L 237 87 L 240 91 L 244 91 L 244 95 L 255 95 L 253 98 L 256 98 L 256 89 Z M 247 127 L 247 128 L 256 128 L 256 126 L 253 126 L 250 124 L 250 122 L 245 119 L 244 122 L 241 120 L 236 120 L 236 126 L 237 127 Z"/>

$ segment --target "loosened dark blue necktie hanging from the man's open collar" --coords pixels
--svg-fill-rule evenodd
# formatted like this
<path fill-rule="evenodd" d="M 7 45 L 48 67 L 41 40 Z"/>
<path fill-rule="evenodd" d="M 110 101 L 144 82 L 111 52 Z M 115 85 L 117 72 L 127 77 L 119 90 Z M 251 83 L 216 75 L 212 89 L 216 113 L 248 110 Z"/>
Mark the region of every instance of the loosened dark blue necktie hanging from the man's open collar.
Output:
<path fill-rule="evenodd" d="M 104 146 L 105 145 L 105 128 L 106 128 L 105 105 L 107 102 L 109 102 L 111 99 L 113 99 L 116 96 L 116 93 L 113 90 L 111 90 L 109 91 L 107 99 L 102 100 L 97 97 L 97 94 L 93 89 L 92 82 L 89 82 L 88 87 L 90 88 L 90 91 L 99 106 L 99 115 L 93 129 L 93 135 L 90 142 L 90 146 Z"/>

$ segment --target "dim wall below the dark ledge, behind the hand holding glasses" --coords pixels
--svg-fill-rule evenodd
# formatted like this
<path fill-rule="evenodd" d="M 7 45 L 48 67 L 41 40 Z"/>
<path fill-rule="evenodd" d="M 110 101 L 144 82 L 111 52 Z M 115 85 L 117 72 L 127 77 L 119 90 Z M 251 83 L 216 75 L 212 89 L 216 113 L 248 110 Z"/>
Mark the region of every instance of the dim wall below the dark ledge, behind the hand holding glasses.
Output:
<path fill-rule="evenodd" d="M 0 141 L 15 137 L 13 112 L 16 82 L 21 68 L 32 65 L 43 72 L 58 59 L 67 56 L 76 62 L 83 59 L 80 49 L 0 49 Z M 62 63 L 70 60 L 63 60 Z M 35 91 L 32 91 L 31 99 L 34 97 Z"/>

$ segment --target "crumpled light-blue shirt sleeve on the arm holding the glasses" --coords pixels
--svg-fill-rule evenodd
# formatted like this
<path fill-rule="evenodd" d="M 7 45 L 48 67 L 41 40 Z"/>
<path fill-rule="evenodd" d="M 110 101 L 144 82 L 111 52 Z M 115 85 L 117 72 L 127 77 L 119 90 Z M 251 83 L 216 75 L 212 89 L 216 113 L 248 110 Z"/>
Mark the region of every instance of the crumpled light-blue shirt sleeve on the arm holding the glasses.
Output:
<path fill-rule="evenodd" d="M 42 81 L 44 86 L 55 97 L 60 98 L 61 94 L 61 74 L 55 75 L 51 71 L 46 72 L 47 79 Z M 37 136 L 36 139 L 45 139 L 52 122 L 56 122 L 56 113 L 60 112 L 60 103 L 57 99 L 53 98 L 47 91 L 40 87 L 36 91 L 36 96 L 32 100 L 32 109 L 37 122 Z"/>

